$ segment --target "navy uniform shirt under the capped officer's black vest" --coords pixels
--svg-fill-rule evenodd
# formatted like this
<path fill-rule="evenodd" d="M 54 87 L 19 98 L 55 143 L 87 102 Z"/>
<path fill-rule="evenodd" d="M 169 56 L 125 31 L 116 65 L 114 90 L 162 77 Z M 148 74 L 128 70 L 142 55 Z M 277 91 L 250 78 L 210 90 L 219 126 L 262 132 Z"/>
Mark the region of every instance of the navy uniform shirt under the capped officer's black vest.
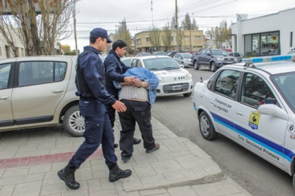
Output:
<path fill-rule="evenodd" d="M 84 50 L 93 51 L 84 55 L 80 60 L 80 69 L 91 90 L 91 94 L 77 91 L 76 95 L 87 98 L 93 97 L 101 101 L 104 105 L 113 105 L 116 99 L 114 96 L 110 95 L 103 86 L 105 72 L 103 62 L 98 56 L 98 54 L 101 54 L 100 51 L 92 46 L 85 46 Z"/>

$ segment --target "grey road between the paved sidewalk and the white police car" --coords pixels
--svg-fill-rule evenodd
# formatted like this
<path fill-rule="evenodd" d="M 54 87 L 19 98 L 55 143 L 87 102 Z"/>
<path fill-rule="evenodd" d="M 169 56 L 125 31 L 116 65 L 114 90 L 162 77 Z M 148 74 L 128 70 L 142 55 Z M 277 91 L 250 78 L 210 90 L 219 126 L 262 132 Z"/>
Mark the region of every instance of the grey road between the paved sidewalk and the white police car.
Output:
<path fill-rule="evenodd" d="M 194 83 L 200 76 L 205 80 L 211 72 L 187 69 Z M 190 139 L 220 165 L 232 179 L 252 195 L 293 195 L 292 177 L 267 161 L 219 136 L 213 142 L 202 138 L 191 97 L 158 97 L 152 108 L 153 115 L 176 135 Z"/>

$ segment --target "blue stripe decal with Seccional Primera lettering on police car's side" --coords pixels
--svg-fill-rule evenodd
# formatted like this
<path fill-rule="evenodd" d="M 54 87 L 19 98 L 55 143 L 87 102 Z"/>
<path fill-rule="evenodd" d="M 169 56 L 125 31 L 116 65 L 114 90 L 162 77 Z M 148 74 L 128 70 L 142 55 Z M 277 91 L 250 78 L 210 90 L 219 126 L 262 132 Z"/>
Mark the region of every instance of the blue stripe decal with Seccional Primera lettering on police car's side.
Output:
<path fill-rule="evenodd" d="M 240 135 L 239 140 L 244 140 L 247 145 L 250 145 L 257 150 L 261 150 L 263 153 L 268 155 L 270 158 L 280 160 L 278 156 L 285 158 L 288 162 L 291 162 L 291 159 L 295 156 L 290 150 L 275 144 L 253 132 L 250 132 L 246 128 L 243 128 L 237 124 L 234 124 L 232 121 L 229 121 L 213 112 L 211 112 L 214 120 Z M 242 136 L 242 137 L 241 137 Z M 243 138 L 243 139 L 242 139 Z M 278 156 L 277 156 L 278 155 Z"/>

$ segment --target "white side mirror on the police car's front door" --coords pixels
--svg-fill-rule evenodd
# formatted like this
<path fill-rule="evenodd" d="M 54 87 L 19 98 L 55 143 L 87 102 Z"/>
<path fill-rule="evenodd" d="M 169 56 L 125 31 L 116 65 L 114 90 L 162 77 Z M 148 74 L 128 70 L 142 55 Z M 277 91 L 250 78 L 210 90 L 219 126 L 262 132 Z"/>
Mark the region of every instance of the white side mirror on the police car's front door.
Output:
<path fill-rule="evenodd" d="M 263 104 L 258 107 L 258 112 L 265 115 L 275 116 L 284 120 L 288 120 L 288 114 L 275 104 Z"/>

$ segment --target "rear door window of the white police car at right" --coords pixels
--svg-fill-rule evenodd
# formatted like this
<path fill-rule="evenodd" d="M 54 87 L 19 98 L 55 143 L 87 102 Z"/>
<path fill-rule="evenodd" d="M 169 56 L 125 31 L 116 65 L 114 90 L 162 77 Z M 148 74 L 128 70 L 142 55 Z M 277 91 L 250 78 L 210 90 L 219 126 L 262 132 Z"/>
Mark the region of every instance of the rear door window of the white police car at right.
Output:
<path fill-rule="evenodd" d="M 224 70 L 219 75 L 214 91 L 226 97 L 235 99 L 240 72 Z"/>

